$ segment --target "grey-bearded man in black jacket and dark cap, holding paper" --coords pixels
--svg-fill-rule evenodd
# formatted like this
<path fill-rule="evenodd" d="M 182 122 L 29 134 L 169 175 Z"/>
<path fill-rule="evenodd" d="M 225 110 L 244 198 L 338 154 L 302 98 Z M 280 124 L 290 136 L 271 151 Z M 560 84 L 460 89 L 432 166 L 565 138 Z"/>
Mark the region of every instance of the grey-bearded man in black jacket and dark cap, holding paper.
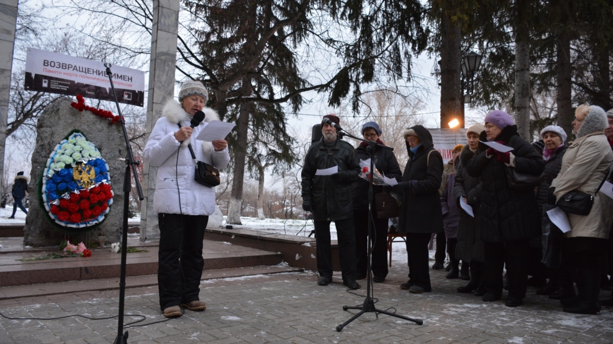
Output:
<path fill-rule="evenodd" d="M 343 284 L 359 289 L 356 282 L 356 234 L 353 225 L 352 192 L 359 178 L 360 165 L 353 146 L 342 141 L 335 125 L 340 119 L 327 114 L 321 124 L 322 138 L 311 144 L 302 167 L 302 209 L 313 215 L 317 243 L 318 285 L 332 282 L 332 249 L 330 222 L 334 221 L 338 235 Z M 332 175 L 320 175 L 319 170 L 338 168 Z"/>

